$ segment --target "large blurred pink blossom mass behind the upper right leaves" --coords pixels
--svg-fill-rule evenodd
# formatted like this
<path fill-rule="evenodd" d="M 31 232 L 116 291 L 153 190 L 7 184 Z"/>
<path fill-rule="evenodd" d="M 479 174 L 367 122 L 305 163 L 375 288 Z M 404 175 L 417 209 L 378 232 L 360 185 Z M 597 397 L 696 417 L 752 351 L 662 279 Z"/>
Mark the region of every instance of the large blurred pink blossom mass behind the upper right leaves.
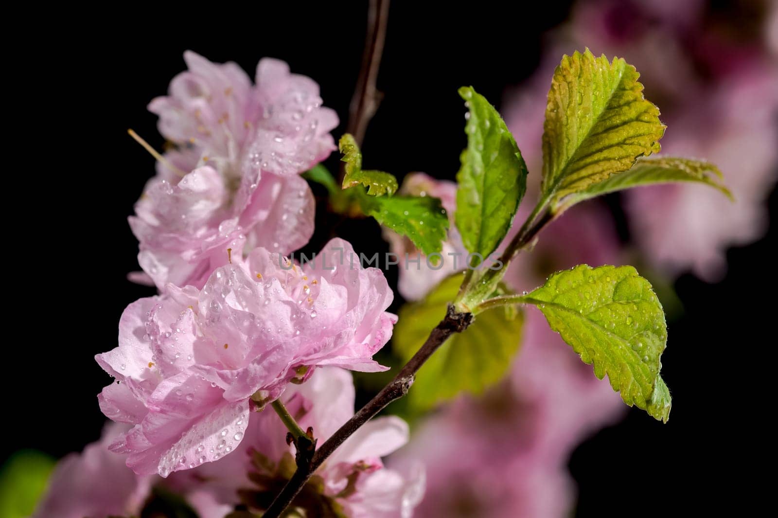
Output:
<path fill-rule="evenodd" d="M 765 230 L 766 198 L 778 175 L 778 68 L 758 41 L 726 40 L 704 16 L 699 0 L 578 2 L 570 22 L 549 34 L 538 71 L 506 97 L 503 115 L 532 178 L 540 171 L 545 95 L 559 55 L 591 47 L 626 58 L 668 125 L 663 155 L 716 163 L 737 200 L 694 184 L 629 191 L 624 199 L 634 240 L 665 271 L 692 269 L 716 280 L 727 247 L 759 239 Z"/>

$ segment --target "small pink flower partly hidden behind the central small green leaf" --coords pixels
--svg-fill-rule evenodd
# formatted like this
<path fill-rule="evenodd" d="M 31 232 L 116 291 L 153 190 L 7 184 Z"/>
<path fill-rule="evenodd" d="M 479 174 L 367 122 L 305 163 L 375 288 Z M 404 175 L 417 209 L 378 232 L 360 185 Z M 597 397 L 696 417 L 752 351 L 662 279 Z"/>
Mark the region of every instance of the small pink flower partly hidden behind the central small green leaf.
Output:
<path fill-rule="evenodd" d="M 440 198 L 443 208 L 448 212 L 450 223 L 448 239 L 443 242 L 443 249 L 440 250 L 442 262 L 433 264 L 433 268 L 429 268 L 426 255 L 422 254 L 411 240 L 386 227 L 383 229 L 384 239 L 389 242 L 392 253 L 398 256 L 400 271 L 398 292 L 406 300 L 417 300 L 425 296 L 426 292 L 443 278 L 451 275 L 454 271 L 464 270 L 468 252 L 464 250 L 461 237 L 454 225 L 454 212 L 457 208 L 457 184 L 447 180 L 436 180 L 425 173 L 411 173 L 402 181 L 400 194 Z"/>

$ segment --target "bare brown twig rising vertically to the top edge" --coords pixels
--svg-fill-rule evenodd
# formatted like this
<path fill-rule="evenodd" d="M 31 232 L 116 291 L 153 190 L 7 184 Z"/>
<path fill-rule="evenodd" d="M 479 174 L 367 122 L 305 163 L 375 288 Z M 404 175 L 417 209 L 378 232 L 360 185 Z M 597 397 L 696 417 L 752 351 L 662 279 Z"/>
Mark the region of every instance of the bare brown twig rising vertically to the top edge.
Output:
<path fill-rule="evenodd" d="M 388 17 L 389 0 L 370 0 L 362 68 L 359 69 L 359 79 L 357 79 L 354 96 L 349 105 L 349 125 L 346 127 L 346 132 L 354 135 L 357 145 L 362 145 L 367 124 L 373 118 L 373 114 L 378 109 L 378 103 L 380 103 L 380 93 L 376 90 L 376 78 L 381 63 L 381 54 L 384 53 Z"/>

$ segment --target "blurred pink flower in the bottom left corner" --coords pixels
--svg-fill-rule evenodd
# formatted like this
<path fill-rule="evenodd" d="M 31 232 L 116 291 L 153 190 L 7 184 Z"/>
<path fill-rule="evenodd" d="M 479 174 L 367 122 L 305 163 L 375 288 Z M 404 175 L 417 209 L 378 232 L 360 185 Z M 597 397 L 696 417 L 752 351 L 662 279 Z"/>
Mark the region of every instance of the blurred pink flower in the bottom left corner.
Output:
<path fill-rule="evenodd" d="M 126 457 L 108 451 L 126 425 L 112 423 L 103 438 L 62 459 L 33 518 L 104 518 L 135 516 L 149 495 L 154 477 L 138 476 L 124 465 Z"/>

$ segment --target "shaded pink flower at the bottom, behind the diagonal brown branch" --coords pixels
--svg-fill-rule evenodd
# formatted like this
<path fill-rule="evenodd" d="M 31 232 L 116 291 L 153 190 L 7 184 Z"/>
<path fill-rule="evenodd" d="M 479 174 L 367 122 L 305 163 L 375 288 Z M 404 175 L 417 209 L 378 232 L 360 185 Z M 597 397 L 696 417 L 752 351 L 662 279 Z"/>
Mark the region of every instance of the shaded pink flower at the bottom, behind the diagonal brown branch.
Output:
<path fill-rule="evenodd" d="M 351 375 L 334 367 L 317 369 L 309 380 L 290 387 L 282 398 L 303 429 L 308 426 L 314 429 L 320 444 L 354 412 Z M 251 413 L 246 436 L 238 451 L 230 457 L 175 474 L 169 478 L 170 485 L 184 490 L 195 488 L 195 491 L 214 495 L 216 502 L 231 505 L 240 503 L 237 489 L 261 492 L 262 488 L 252 488 L 254 484 L 247 478 L 248 472 L 260 469 L 252 462 L 257 454 L 254 452 L 272 464 L 282 464 L 291 461 L 294 446 L 286 444 L 286 428 L 269 408 Z M 335 450 L 317 471 L 323 482 L 321 497 L 334 499 L 352 518 L 411 516 L 424 490 L 423 471 L 417 466 L 406 476 L 384 468 L 381 461 L 381 457 L 407 441 L 408 425 L 400 418 L 389 416 L 368 422 Z M 275 474 L 269 467 L 262 471 L 265 477 Z"/>

